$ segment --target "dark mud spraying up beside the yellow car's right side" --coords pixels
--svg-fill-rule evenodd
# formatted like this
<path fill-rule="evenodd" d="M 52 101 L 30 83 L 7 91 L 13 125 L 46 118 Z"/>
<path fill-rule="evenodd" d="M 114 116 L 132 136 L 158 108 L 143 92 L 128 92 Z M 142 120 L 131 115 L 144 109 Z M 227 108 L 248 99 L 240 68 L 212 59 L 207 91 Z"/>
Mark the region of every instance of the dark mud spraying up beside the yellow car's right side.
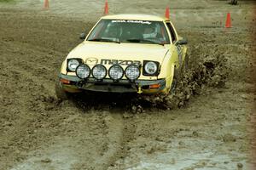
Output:
<path fill-rule="evenodd" d="M 194 54 L 189 54 L 190 59 Z M 175 93 L 166 96 L 142 96 L 135 99 L 137 108 L 132 107 L 132 111 L 141 112 L 143 107 L 154 105 L 158 109 L 174 109 L 186 105 L 193 95 L 200 95 L 205 86 L 213 88 L 224 88 L 225 82 L 229 77 L 230 69 L 228 59 L 223 54 L 207 54 L 201 60 L 195 63 L 190 62 L 189 71 L 185 72 L 177 82 Z"/>

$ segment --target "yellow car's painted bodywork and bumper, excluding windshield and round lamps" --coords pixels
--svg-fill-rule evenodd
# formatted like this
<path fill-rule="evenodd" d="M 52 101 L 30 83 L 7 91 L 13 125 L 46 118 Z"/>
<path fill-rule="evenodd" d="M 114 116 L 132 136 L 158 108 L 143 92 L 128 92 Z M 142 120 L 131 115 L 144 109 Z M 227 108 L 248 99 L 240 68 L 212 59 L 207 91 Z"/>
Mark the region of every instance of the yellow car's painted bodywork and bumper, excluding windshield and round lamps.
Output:
<path fill-rule="evenodd" d="M 134 42 L 99 42 L 90 41 L 90 34 L 102 20 L 117 20 L 119 22 L 161 22 L 169 38 L 168 43 L 134 43 Z M 183 66 L 187 48 L 186 41 L 177 35 L 177 31 L 170 20 L 151 15 L 119 14 L 102 17 L 96 26 L 92 28 L 84 42 L 74 48 L 67 55 L 61 65 L 60 86 L 70 93 L 82 90 L 114 92 L 114 93 L 138 93 L 138 94 L 166 94 L 172 87 L 174 71 Z M 68 70 L 70 59 L 78 59 L 79 65 L 86 65 L 90 69 L 90 76 L 78 77 L 76 71 Z M 145 71 L 145 65 L 154 62 L 157 71 L 150 75 Z M 93 76 L 96 65 L 103 65 L 106 75 L 100 80 Z M 120 65 L 123 75 L 119 80 L 113 80 L 109 76 L 109 69 L 113 65 Z M 125 70 L 130 65 L 137 66 L 139 76 L 131 80 L 126 76 Z"/>

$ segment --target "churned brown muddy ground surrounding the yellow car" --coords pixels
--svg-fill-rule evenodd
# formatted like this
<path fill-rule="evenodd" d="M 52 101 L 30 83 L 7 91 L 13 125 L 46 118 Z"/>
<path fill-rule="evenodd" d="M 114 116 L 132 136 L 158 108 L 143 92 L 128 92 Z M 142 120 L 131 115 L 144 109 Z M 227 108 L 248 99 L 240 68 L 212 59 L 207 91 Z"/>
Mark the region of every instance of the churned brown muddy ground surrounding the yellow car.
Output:
<path fill-rule="evenodd" d="M 171 111 L 114 95 L 93 102 L 55 98 L 62 59 L 102 13 L 103 3 L 72 2 L 52 0 L 48 10 L 40 1 L 0 3 L 1 170 L 256 167 L 253 1 L 109 0 L 112 13 L 162 14 L 169 4 L 178 33 L 189 39 L 191 69 L 204 59 L 227 59 L 224 87 L 212 87 L 212 79 Z M 224 29 L 226 11 L 230 29 Z"/>

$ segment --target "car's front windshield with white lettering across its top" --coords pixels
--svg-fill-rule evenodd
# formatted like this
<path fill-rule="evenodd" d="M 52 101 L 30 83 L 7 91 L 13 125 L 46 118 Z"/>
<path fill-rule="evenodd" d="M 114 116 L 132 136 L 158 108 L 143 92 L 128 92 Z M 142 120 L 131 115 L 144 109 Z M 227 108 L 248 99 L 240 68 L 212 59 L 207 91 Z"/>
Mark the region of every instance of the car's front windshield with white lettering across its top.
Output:
<path fill-rule="evenodd" d="M 87 41 L 170 44 L 163 22 L 145 20 L 101 20 Z"/>

